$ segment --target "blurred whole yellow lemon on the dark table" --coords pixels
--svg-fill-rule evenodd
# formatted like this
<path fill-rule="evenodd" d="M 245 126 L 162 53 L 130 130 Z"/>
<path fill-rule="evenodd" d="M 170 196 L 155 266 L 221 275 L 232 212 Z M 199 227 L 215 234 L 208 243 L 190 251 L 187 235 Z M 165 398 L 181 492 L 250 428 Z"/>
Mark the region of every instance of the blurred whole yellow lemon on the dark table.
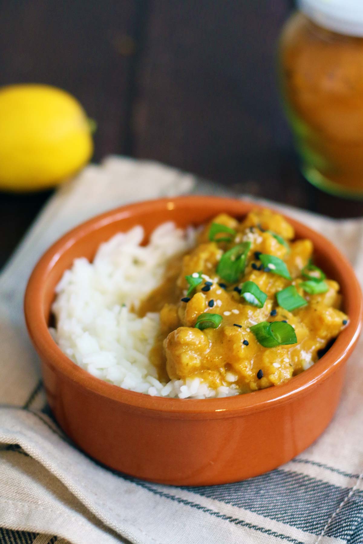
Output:
<path fill-rule="evenodd" d="M 92 153 L 90 123 L 73 96 L 48 85 L 0 89 L 0 190 L 53 187 Z"/>

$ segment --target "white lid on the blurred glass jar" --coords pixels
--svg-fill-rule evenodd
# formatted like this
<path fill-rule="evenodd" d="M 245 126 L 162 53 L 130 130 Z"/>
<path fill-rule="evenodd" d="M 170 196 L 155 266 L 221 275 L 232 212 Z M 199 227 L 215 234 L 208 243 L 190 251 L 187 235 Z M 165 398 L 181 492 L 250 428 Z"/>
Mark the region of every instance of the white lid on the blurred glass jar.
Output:
<path fill-rule="evenodd" d="M 298 8 L 321 27 L 363 36 L 363 0 L 298 0 Z"/>

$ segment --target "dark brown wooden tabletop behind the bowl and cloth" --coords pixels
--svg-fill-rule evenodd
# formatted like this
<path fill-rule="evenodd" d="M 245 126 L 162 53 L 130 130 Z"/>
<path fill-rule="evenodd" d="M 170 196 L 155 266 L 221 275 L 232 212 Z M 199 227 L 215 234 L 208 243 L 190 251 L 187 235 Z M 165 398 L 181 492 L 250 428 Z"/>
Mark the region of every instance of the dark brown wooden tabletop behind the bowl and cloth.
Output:
<path fill-rule="evenodd" d="M 11 0 L 0 3 L 0 85 L 75 95 L 98 123 L 95 161 L 152 158 L 331 217 L 361 202 L 299 174 L 275 77 L 289 0 Z M 51 191 L 0 193 L 0 265 Z"/>

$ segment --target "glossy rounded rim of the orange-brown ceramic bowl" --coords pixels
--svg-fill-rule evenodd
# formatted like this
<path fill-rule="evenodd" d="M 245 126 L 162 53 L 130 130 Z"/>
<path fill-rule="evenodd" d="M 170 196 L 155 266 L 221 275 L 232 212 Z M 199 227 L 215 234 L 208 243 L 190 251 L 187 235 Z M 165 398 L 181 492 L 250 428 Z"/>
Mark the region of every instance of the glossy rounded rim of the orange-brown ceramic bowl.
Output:
<path fill-rule="evenodd" d="M 228 417 L 237 414 L 241 415 L 242 413 L 247 415 L 250 412 L 266 410 L 272 406 L 291 401 L 299 395 L 306 394 L 311 387 L 317 386 L 319 382 L 325 380 L 331 373 L 335 372 L 353 351 L 362 327 L 363 304 L 358 279 L 355 276 L 352 265 L 350 265 L 347 258 L 341 254 L 333 243 L 322 236 L 322 234 L 280 211 L 278 213 L 281 213 L 298 231 L 298 236 L 299 231 L 304 231 L 304 237 L 319 239 L 319 242 L 327 248 L 333 267 L 341 270 L 342 275 L 346 277 L 345 296 L 349 300 L 350 306 L 349 323 L 341 331 L 328 352 L 309 369 L 294 376 L 285 384 L 251 393 L 210 399 L 179 399 L 151 396 L 109 384 L 78 367 L 76 363 L 71 361 L 60 350 L 48 330 L 43 312 L 43 290 L 39 286 L 44 284 L 47 275 L 63 252 L 75 244 L 78 239 L 85 236 L 85 234 L 94 232 L 97 228 L 111 222 L 137 216 L 151 210 L 157 212 L 158 210 L 162 211 L 165 209 L 174 209 L 175 207 L 190 206 L 191 203 L 193 203 L 193 207 L 195 208 L 205 207 L 207 202 L 210 203 L 211 207 L 220 207 L 221 211 L 223 211 L 224 207 L 233 208 L 236 215 L 248 213 L 248 209 L 253 208 L 273 209 L 273 207 L 268 205 L 261 205 L 243 199 L 204 195 L 177 196 L 137 202 L 109 210 L 81 223 L 59 238 L 35 265 L 24 296 L 24 314 L 28 333 L 42 360 L 47 361 L 53 369 L 56 369 L 65 378 L 71 380 L 80 388 L 85 388 L 89 392 L 102 395 L 109 400 L 116 401 L 116 403 L 128 405 L 130 409 L 146 410 L 150 414 L 152 412 L 164 412 L 165 415 L 169 415 L 170 417 L 185 417 L 187 415 L 204 418 Z M 243 209 L 238 211 L 239 207 Z M 198 222 L 198 218 L 196 218 L 196 222 Z"/>

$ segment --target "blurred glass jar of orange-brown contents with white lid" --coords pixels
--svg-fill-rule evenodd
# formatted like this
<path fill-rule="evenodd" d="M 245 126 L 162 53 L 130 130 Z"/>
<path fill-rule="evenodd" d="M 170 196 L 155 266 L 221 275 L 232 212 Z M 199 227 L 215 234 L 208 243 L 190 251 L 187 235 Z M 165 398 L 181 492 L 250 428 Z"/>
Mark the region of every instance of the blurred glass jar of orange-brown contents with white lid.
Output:
<path fill-rule="evenodd" d="M 300 0 L 282 29 L 282 96 L 303 175 L 363 198 L 363 0 Z"/>

